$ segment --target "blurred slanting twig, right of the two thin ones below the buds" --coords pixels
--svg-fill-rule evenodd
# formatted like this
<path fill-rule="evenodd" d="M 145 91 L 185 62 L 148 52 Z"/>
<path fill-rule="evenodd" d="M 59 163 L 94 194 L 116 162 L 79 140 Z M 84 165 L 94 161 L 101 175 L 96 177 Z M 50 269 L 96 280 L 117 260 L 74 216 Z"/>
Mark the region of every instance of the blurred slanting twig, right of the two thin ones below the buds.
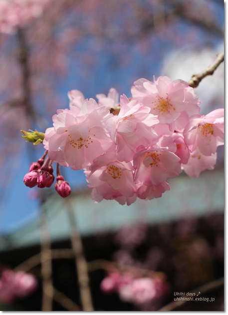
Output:
<path fill-rule="evenodd" d="M 69 200 L 66 201 L 67 213 L 70 221 L 70 237 L 72 249 L 75 255 L 75 264 L 77 269 L 79 292 L 82 304 L 82 311 L 94 311 L 92 304 L 92 297 L 89 288 L 89 276 L 87 270 L 87 263 L 83 254 L 82 241 L 77 229 L 74 210 Z"/>

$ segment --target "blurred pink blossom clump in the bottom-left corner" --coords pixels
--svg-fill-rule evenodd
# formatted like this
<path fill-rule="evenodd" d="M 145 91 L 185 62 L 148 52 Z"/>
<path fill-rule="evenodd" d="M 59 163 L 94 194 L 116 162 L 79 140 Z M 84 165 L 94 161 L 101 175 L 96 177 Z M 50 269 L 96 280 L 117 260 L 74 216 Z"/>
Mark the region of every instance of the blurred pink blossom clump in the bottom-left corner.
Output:
<path fill-rule="evenodd" d="M 0 302 L 12 303 L 17 298 L 25 298 L 36 289 L 37 281 L 33 275 L 4 270 L 0 278 Z"/>

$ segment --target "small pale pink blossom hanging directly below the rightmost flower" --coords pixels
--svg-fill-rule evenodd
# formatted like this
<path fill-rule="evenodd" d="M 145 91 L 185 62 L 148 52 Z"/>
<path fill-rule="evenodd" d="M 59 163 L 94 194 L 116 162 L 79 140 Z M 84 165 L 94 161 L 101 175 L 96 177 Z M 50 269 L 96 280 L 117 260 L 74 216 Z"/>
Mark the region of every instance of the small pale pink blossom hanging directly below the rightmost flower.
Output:
<path fill-rule="evenodd" d="M 202 171 L 213 170 L 216 165 L 217 153 L 211 156 L 203 155 L 197 148 L 193 153 L 191 153 L 189 161 L 187 164 L 182 164 L 182 169 L 190 177 L 199 177 Z"/>

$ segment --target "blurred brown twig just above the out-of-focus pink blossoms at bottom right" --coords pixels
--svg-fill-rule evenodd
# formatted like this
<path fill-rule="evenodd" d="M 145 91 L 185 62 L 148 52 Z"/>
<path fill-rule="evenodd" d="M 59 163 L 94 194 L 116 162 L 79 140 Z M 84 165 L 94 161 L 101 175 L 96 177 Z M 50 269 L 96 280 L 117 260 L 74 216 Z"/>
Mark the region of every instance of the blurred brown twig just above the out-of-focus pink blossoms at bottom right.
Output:
<path fill-rule="evenodd" d="M 88 271 L 94 271 L 97 269 L 104 269 L 106 271 L 112 272 L 119 270 L 121 272 L 131 272 L 136 275 L 140 275 L 141 277 L 150 277 L 150 278 L 160 278 L 162 280 L 166 279 L 165 274 L 160 273 L 160 272 L 154 272 L 152 270 L 147 270 L 147 269 L 142 269 L 142 268 L 137 268 L 137 267 L 132 267 L 132 266 L 126 266 L 122 265 L 116 262 L 109 262 L 107 260 L 103 259 L 98 259 L 92 262 L 89 262 L 87 264 L 88 266 Z"/>

